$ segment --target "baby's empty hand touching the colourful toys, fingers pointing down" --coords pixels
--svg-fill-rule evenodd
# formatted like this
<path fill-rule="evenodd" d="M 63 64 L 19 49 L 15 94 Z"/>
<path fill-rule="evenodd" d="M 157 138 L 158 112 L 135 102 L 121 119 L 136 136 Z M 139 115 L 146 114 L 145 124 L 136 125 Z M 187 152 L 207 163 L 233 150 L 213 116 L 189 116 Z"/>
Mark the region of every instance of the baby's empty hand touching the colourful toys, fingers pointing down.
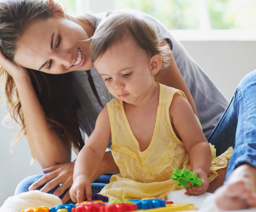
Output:
<path fill-rule="evenodd" d="M 70 188 L 70 197 L 73 202 L 81 203 L 87 198 L 91 200 L 91 182 L 86 175 L 79 175 Z"/>

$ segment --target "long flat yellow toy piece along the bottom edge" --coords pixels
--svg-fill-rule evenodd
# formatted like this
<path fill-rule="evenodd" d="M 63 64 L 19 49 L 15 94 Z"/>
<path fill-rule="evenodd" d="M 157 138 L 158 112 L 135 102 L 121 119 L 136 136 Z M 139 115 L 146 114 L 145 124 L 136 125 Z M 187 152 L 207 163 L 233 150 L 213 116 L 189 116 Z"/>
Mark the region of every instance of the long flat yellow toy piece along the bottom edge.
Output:
<path fill-rule="evenodd" d="M 166 204 L 166 207 L 158 209 L 137 210 L 137 212 L 175 212 L 184 210 L 195 210 L 194 204 Z"/>

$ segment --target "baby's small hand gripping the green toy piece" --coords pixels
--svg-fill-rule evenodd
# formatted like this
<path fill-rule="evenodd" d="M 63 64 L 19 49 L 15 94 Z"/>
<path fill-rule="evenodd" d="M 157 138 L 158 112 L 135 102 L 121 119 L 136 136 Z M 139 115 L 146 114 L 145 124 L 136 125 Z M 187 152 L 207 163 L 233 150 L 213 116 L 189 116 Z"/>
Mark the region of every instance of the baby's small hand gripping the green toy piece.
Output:
<path fill-rule="evenodd" d="M 185 195 L 202 195 L 205 193 L 209 187 L 209 181 L 207 178 L 207 175 L 204 170 L 198 169 L 196 171 L 193 171 L 195 174 L 197 174 L 197 177 L 202 179 L 202 185 L 201 186 L 194 186 L 193 188 L 185 188 L 186 192 Z M 191 186 L 191 183 L 187 183 L 188 186 Z"/>

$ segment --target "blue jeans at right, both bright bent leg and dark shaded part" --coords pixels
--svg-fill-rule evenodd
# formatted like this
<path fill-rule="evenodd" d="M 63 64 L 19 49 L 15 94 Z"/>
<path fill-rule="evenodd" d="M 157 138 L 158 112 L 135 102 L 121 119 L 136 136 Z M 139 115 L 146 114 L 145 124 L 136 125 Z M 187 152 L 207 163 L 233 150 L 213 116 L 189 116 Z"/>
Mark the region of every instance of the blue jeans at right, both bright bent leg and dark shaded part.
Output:
<path fill-rule="evenodd" d="M 217 156 L 230 146 L 234 148 L 226 180 L 241 164 L 256 168 L 256 70 L 241 80 L 225 113 L 207 139 L 215 146 Z"/>

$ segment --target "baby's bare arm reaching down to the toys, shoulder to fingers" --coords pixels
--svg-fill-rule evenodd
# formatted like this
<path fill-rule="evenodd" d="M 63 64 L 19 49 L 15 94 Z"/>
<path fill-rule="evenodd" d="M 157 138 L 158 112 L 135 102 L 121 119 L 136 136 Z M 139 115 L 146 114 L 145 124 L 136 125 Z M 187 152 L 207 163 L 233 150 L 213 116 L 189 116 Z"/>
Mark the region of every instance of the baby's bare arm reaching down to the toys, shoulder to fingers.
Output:
<path fill-rule="evenodd" d="M 97 171 L 110 139 L 111 127 L 108 109 L 104 107 L 99 113 L 93 133 L 78 154 L 74 165 L 74 182 L 70 188 L 70 197 L 73 202 L 81 203 L 86 197 L 91 200 L 90 178 Z"/>

